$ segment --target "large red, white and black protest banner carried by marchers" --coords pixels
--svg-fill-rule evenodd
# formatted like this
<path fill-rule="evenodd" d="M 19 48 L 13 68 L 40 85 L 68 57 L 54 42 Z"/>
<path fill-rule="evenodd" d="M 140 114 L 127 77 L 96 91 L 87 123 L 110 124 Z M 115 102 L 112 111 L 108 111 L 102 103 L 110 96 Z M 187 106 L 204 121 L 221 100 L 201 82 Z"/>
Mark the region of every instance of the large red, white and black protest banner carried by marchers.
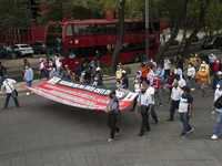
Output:
<path fill-rule="evenodd" d="M 52 77 L 38 86 L 22 86 L 36 94 L 70 106 L 104 111 L 111 90 L 115 91 L 120 110 L 127 108 L 138 93 L 123 89 L 107 89 L 85 83 Z"/>

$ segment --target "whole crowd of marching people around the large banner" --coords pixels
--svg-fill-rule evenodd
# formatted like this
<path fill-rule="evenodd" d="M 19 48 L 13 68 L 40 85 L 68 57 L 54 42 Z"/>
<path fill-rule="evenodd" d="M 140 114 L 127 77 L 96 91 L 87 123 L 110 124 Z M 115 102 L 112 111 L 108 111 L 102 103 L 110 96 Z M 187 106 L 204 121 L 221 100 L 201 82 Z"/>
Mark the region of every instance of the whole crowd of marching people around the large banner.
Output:
<path fill-rule="evenodd" d="M 62 60 L 58 55 L 54 55 L 53 60 L 50 59 L 49 63 L 47 64 L 41 58 L 39 63 L 39 82 L 41 82 L 42 74 L 44 74 L 47 79 L 60 76 L 61 79 L 65 80 L 103 86 L 103 72 L 100 68 L 101 59 L 101 54 L 97 51 L 97 62 L 91 60 L 89 64 L 85 64 L 84 69 L 80 66 L 79 62 L 75 62 L 75 70 L 73 72 L 68 65 L 62 65 Z M 222 126 L 221 60 L 213 53 L 208 55 L 204 52 L 203 56 L 201 58 L 198 53 L 192 53 L 186 71 L 184 64 L 185 61 L 181 55 L 178 55 L 174 68 L 172 68 L 169 58 L 164 58 L 163 65 L 157 64 L 153 59 L 148 59 L 141 70 L 137 72 L 131 86 L 139 95 L 134 100 L 130 111 L 141 113 L 142 124 L 139 136 L 142 136 L 144 132 L 151 129 L 149 125 L 149 114 L 151 114 L 155 124 L 160 123 L 160 118 L 154 111 L 154 98 L 155 95 L 158 95 L 159 106 L 164 105 L 162 98 L 167 90 L 170 92 L 167 96 L 167 103 L 171 103 L 168 122 L 174 121 L 174 114 L 175 112 L 179 112 L 180 120 L 183 123 L 181 137 L 185 137 L 189 133 L 191 133 L 193 127 L 190 125 L 189 120 L 192 117 L 193 96 L 190 92 L 195 91 L 194 83 L 199 81 L 201 87 L 201 97 L 206 97 L 205 87 L 212 86 L 212 92 L 214 94 L 212 110 L 219 112 L 219 118 L 211 138 L 218 138 Z M 27 82 L 27 86 L 31 86 L 33 81 L 33 71 L 27 59 L 24 59 L 22 68 L 23 80 Z M 6 73 L 6 68 L 3 68 L 0 63 L 0 83 L 3 85 L 3 95 L 7 93 L 6 104 L 2 110 L 8 107 L 10 96 L 13 97 L 17 108 L 19 107 L 19 102 L 14 97 L 16 94 L 13 94 L 17 82 L 12 79 L 9 79 Z M 109 87 L 124 90 L 130 89 L 128 73 L 125 70 L 123 70 L 121 63 L 119 63 L 117 66 L 115 77 L 115 85 L 111 85 Z M 189 86 L 190 84 L 191 86 Z M 28 91 L 27 95 L 30 94 L 31 92 Z M 105 110 L 105 112 L 109 114 L 108 125 L 111 128 L 111 137 L 109 142 L 113 141 L 114 136 L 119 135 L 121 132 L 121 129 L 115 126 L 117 121 L 114 117 L 118 113 L 118 110 L 119 102 L 117 100 L 115 92 L 112 91 L 108 107 Z"/>

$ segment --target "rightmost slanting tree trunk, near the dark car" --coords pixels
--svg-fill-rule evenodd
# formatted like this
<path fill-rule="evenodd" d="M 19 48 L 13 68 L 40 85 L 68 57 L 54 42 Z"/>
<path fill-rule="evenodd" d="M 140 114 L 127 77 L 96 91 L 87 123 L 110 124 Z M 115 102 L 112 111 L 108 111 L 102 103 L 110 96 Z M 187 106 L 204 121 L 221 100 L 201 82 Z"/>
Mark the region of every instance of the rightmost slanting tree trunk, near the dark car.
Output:
<path fill-rule="evenodd" d="M 209 3 L 209 1 L 206 1 L 206 3 Z M 182 56 L 185 58 L 188 54 L 189 54 L 189 50 L 190 50 L 190 45 L 191 45 L 191 42 L 192 42 L 192 38 L 195 38 L 198 32 L 201 30 L 203 23 L 204 23 L 204 17 L 205 17 L 205 9 L 206 9 L 208 4 L 205 4 L 201 11 L 201 14 L 200 14 L 200 18 L 199 18 L 199 21 L 196 23 L 196 27 L 195 29 L 193 30 L 193 32 L 191 33 L 190 38 L 188 39 L 186 43 L 185 43 L 185 46 L 183 49 L 183 52 L 182 52 Z"/>

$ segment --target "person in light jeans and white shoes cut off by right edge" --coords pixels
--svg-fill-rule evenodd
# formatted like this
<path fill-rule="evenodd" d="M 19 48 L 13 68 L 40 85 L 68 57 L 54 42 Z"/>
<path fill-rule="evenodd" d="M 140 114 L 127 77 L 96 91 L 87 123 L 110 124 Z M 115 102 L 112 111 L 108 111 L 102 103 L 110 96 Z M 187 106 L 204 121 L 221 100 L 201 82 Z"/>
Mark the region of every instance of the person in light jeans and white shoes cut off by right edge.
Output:
<path fill-rule="evenodd" d="M 220 82 L 218 82 L 216 86 L 218 86 L 218 89 L 215 90 L 214 98 L 213 98 L 213 103 L 212 103 L 212 111 L 218 112 L 218 122 L 216 122 L 216 125 L 215 125 L 215 129 L 213 131 L 213 135 L 211 137 L 211 139 L 213 139 L 213 141 L 218 139 L 219 133 L 220 133 L 221 126 L 222 126 L 222 107 L 215 107 L 214 106 L 214 103 L 218 100 L 221 100 L 219 97 L 222 95 L 222 80 Z"/>

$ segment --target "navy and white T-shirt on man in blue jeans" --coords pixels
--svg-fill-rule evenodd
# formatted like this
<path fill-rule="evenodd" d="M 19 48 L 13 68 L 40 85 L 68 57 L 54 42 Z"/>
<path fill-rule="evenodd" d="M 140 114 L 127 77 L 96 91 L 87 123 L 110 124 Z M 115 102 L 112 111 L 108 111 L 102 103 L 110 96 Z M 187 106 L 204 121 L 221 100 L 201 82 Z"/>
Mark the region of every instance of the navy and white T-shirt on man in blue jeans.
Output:
<path fill-rule="evenodd" d="M 193 103 L 193 97 L 189 93 L 186 95 L 182 94 L 179 105 L 179 113 L 186 113 L 189 111 L 189 104 Z"/>

